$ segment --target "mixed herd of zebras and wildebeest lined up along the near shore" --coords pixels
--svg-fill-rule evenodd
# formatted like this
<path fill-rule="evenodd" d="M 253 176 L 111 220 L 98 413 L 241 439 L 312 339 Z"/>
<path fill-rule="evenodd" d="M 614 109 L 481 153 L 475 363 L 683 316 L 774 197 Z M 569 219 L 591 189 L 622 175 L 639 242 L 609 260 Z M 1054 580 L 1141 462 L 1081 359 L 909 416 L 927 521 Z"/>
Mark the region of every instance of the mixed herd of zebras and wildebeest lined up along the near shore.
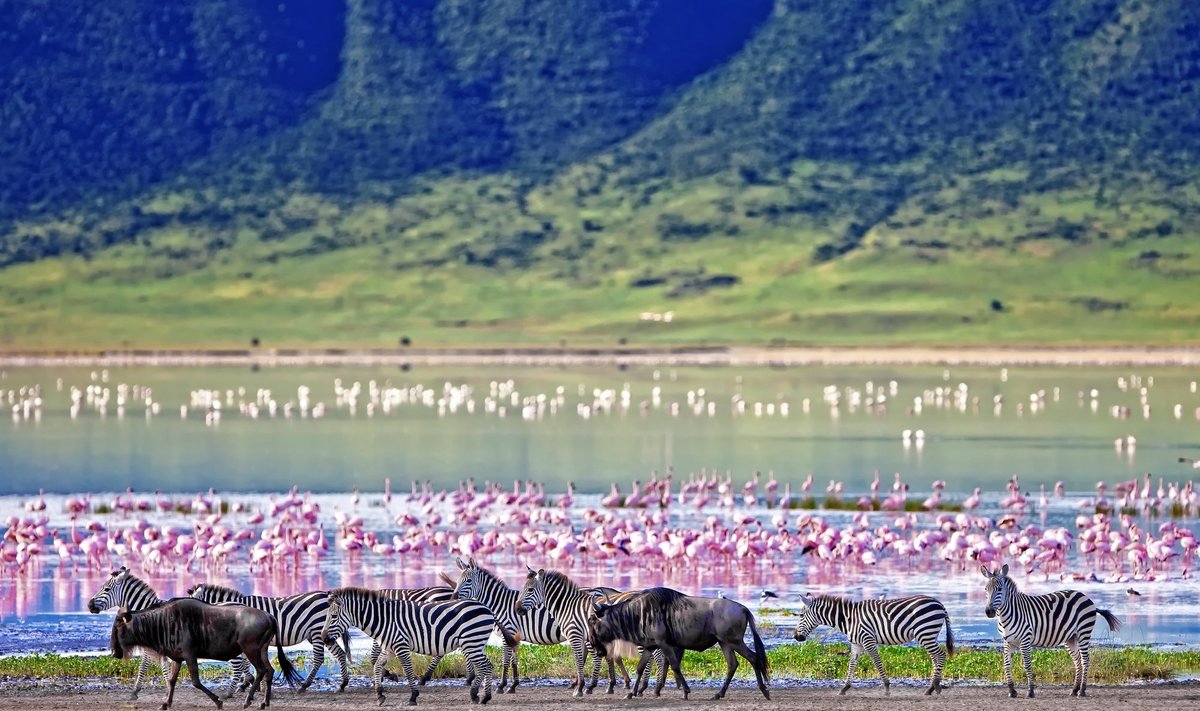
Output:
<path fill-rule="evenodd" d="M 188 590 L 190 598 L 175 601 L 162 599 L 144 580 L 128 569 L 113 572 L 103 587 L 89 601 L 91 613 L 120 608 L 114 622 L 113 646 L 118 653 L 118 631 L 136 626 L 143 616 L 140 629 L 173 625 L 168 617 L 158 615 L 151 621 L 156 610 L 173 604 L 185 603 L 197 605 L 196 601 L 209 603 L 200 609 L 216 609 L 229 605 L 241 605 L 270 619 L 268 623 L 274 634 L 274 641 L 281 649 L 302 643 L 310 643 L 313 649 L 311 669 L 300 683 L 304 692 L 313 682 L 318 668 L 325 658 L 326 647 L 337 659 L 341 670 L 343 691 L 349 683 L 349 629 L 356 627 L 373 638 L 370 669 L 372 681 L 380 704 L 384 701 L 383 679 L 397 680 L 385 669 L 385 663 L 397 657 L 407 676 L 409 686 L 409 705 L 415 705 L 419 687 L 433 675 L 443 656 L 461 651 L 467 661 L 470 699 L 486 704 L 492 697 L 492 663 L 484 653 L 484 647 L 493 629 L 504 640 L 502 671 L 497 693 L 515 693 L 520 683 L 517 673 L 517 647 L 521 641 L 539 645 L 557 645 L 566 643 L 575 662 L 575 679 L 571 683 L 574 695 L 592 693 L 599 682 L 600 665 L 607 662 L 608 693 L 616 687 L 614 667 L 624 677 L 628 695 L 641 694 L 648 686 L 644 671 L 653 661 L 658 667 L 658 686 L 660 693 L 667 670 L 674 673 L 684 698 L 689 687 L 679 669 L 684 650 L 703 650 L 720 645 L 727 663 L 725 683 L 715 698 L 721 698 L 728 689 L 730 681 L 738 667 L 737 657 L 745 658 L 755 670 L 755 677 L 762 694 L 769 697 L 767 688 L 767 655 L 755 626 L 754 615 L 740 603 L 725 598 L 701 598 L 685 596 L 670 588 L 655 587 L 643 591 L 618 591 L 611 587 L 581 587 L 565 574 L 547 570 L 528 570 L 521 588 L 509 587 L 500 578 L 487 568 L 469 561 L 456 560 L 458 579 L 443 575 L 446 585 L 422 588 L 368 590 L 362 587 L 341 587 L 331 591 L 314 591 L 290 597 L 264 597 L 244 595 L 218 585 L 199 584 Z M 1097 616 L 1104 617 L 1110 629 L 1120 628 L 1120 621 L 1109 610 L 1098 609 L 1082 592 L 1057 591 L 1046 595 L 1024 595 L 1008 576 L 1008 566 L 1000 570 L 982 567 L 986 579 L 988 603 L 985 614 L 996 617 L 1000 634 L 1004 641 L 1004 676 L 1009 694 L 1016 695 L 1013 680 L 1012 658 L 1021 655 L 1025 674 L 1028 680 L 1028 695 L 1033 697 L 1033 669 L 1031 653 L 1033 647 L 1066 646 L 1070 652 L 1075 670 L 1075 686 L 1072 695 L 1086 695 L 1088 646 Z M 181 625 L 174 622 L 174 625 Z M 262 623 L 256 622 L 256 631 Z M 850 640 L 850 668 L 841 693 L 851 687 L 856 664 L 862 655 L 870 657 L 882 679 L 884 693 L 889 693 L 889 682 L 880 657 L 880 645 L 906 644 L 917 641 L 928 653 L 932 663 L 932 676 L 926 694 L 941 693 L 942 673 L 948 655 L 954 653 L 954 635 L 950 631 L 949 616 L 937 599 L 929 596 L 913 596 L 898 599 L 872 599 L 852 602 L 830 596 L 804 597 L 794 631 L 794 639 L 804 641 L 817 627 L 832 627 L 846 634 Z M 946 627 L 946 649 L 938 644 L 942 627 Z M 744 641 L 749 627 L 754 647 Z M 145 639 L 179 639 L 176 629 L 155 629 Z M 193 631 L 193 635 L 194 635 Z M 222 633 L 224 634 L 224 633 Z M 257 632 L 256 632 L 257 634 Z M 228 635 L 227 635 L 228 637 Z M 187 663 L 192 673 L 193 685 L 209 694 L 217 705 L 217 697 L 205 689 L 194 671 L 194 657 L 204 653 L 188 655 L 174 649 L 156 645 L 152 641 L 132 640 L 142 646 L 143 652 L 169 658 L 173 664 L 164 664 L 163 673 L 168 681 L 168 700 L 170 705 L 174 681 L 182 663 Z M 268 635 L 268 643 L 270 634 Z M 131 644 L 126 639 L 125 647 Z M 259 646 L 253 647 L 259 653 Z M 176 645 L 178 646 L 178 645 Z M 260 664 L 242 656 L 221 658 L 230 659 L 233 675 L 226 698 L 241 687 L 250 688 L 246 704 L 253 695 L 254 687 L 262 681 Z M 413 670 L 412 655 L 432 657 L 424 676 L 418 680 Z M 590 676 L 586 674 L 584 664 L 588 655 L 593 656 Z M 137 699 L 145 680 L 151 656 L 143 653 L 142 663 L 133 685 L 132 699 Z M 120 655 L 119 655 L 120 656 Z M 630 687 L 630 677 L 622 657 L 637 656 L 637 679 Z M 265 659 L 265 647 L 262 650 Z M 257 677 L 248 675 L 253 664 L 259 670 Z M 268 686 L 274 677 L 269 662 L 266 669 Z M 300 681 L 286 658 L 280 661 L 284 676 L 290 683 L 293 677 Z M 512 680 L 509 682 L 509 670 Z M 482 688 L 482 697 L 480 697 Z M 269 701 L 270 695 L 266 694 Z M 264 706 L 265 706 L 264 701 Z"/>

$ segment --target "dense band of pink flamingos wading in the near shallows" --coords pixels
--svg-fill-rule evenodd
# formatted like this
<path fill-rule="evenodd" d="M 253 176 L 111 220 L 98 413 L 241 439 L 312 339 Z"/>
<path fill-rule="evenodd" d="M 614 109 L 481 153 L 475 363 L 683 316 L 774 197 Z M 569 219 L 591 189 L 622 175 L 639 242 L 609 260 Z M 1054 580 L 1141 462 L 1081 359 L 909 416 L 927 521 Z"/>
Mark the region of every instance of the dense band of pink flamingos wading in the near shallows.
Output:
<path fill-rule="evenodd" d="M 904 566 L 974 570 L 1009 562 L 1027 574 L 1124 582 L 1190 574 L 1200 513 L 1192 480 L 1183 485 L 1100 482 L 1094 496 L 1068 495 L 1061 484 L 1026 494 L 1013 477 L 1007 491 L 943 496 L 936 482 L 923 502 L 910 501 L 899 473 L 880 491 L 846 496 L 838 482 L 820 502 L 811 477 L 791 483 L 755 472 L 740 486 L 730 473 L 698 472 L 678 486 L 673 472 L 652 472 L 628 494 L 616 483 L 605 496 L 582 496 L 574 485 L 551 496 L 541 484 L 511 489 L 474 479 L 451 489 L 412 483 L 392 495 L 356 490 L 348 509 L 323 510 L 311 492 L 270 496 L 259 508 L 208 491 L 184 497 L 138 495 L 60 497 L 48 510 L 44 495 L 24 502 L 5 520 L 0 569 L 23 575 L 47 560 L 71 569 L 136 564 L 146 572 L 299 568 L 329 555 L 427 560 L 486 556 L 556 567 L 628 562 L 670 569 L 688 567 Z M 97 501 L 102 498 L 102 501 Z M 980 504 L 984 501 L 984 504 Z M 1050 507 L 1074 507 L 1074 524 L 1046 526 Z M 360 508 L 371 507 L 372 530 Z M 382 510 L 380 510 L 382 509 Z M 50 513 L 58 524 L 52 524 Z"/>

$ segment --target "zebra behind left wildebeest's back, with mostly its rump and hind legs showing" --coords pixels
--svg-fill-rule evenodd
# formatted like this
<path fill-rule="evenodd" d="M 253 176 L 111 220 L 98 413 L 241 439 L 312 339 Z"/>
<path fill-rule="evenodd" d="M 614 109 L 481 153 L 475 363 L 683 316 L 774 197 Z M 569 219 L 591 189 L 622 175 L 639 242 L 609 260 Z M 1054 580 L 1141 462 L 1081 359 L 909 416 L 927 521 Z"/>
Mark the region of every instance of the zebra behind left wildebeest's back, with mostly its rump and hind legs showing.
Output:
<path fill-rule="evenodd" d="M 337 658 L 337 665 L 342 671 L 342 685 L 337 691 L 346 691 L 346 686 L 350 682 L 350 634 L 340 621 L 325 625 L 325 617 L 329 613 L 329 596 L 325 591 L 302 592 L 289 597 L 266 597 L 244 595 L 232 587 L 202 582 L 190 587 L 187 595 L 209 604 L 233 603 L 266 613 L 278 625 L 280 643 L 283 646 L 311 643 L 312 669 L 300 685 L 298 689 L 300 693 L 308 689 L 317 677 L 317 670 L 325 662 L 326 643 L 330 651 L 334 652 L 334 657 Z M 332 639 L 322 637 L 326 627 L 334 634 Z M 337 645 L 337 638 L 342 640 L 341 646 Z"/>

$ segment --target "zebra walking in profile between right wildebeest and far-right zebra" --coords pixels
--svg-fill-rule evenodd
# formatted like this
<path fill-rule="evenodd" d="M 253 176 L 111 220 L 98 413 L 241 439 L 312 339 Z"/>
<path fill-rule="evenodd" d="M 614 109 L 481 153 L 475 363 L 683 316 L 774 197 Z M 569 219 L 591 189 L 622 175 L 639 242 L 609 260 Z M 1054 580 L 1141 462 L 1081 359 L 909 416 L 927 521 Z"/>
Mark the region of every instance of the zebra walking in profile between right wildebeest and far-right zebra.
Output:
<path fill-rule="evenodd" d="M 946 650 L 937 644 L 942 625 L 946 625 Z M 833 627 L 850 639 L 850 669 L 839 695 L 850 691 L 854 668 L 864 652 L 871 657 L 875 670 L 883 680 L 883 695 L 890 695 L 890 682 L 883 670 L 883 659 L 880 658 L 880 645 L 913 640 L 924 647 L 934 664 L 934 676 L 925 695 L 942 693 L 942 670 L 946 657 L 954 653 L 954 633 L 950 632 L 950 616 L 941 602 L 928 595 L 857 602 L 828 595 L 800 597 L 800 619 L 792 637 L 796 641 L 804 641 L 821 626 Z"/>

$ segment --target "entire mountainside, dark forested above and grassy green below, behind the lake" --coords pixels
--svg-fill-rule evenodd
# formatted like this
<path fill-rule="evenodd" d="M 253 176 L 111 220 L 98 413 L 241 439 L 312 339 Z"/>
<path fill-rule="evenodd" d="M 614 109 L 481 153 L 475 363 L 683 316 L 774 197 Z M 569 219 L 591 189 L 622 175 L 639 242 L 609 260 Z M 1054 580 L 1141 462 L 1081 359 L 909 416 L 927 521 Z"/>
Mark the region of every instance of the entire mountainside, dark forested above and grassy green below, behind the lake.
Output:
<path fill-rule="evenodd" d="M 0 82 L 0 348 L 1200 333 L 1186 0 L 59 0 Z"/>

